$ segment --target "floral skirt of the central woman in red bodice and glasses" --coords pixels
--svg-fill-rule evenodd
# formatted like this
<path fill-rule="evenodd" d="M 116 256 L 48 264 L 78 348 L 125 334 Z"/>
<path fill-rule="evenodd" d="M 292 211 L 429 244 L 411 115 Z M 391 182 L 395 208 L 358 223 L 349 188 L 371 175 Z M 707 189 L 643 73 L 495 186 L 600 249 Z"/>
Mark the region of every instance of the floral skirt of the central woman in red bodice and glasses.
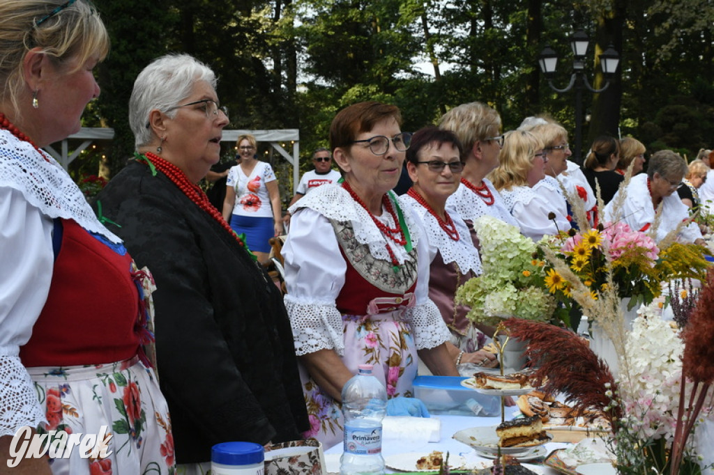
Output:
<path fill-rule="evenodd" d="M 401 312 L 356 317 L 343 315 L 345 352 L 342 362 L 352 374 L 359 364 L 372 364 L 372 375 L 387 388 L 387 396 L 413 397 L 416 377 L 416 345 Z M 307 438 L 321 441 L 325 449 L 343 441 L 342 405 L 332 399 L 300 365 L 300 378 L 311 429 Z"/>

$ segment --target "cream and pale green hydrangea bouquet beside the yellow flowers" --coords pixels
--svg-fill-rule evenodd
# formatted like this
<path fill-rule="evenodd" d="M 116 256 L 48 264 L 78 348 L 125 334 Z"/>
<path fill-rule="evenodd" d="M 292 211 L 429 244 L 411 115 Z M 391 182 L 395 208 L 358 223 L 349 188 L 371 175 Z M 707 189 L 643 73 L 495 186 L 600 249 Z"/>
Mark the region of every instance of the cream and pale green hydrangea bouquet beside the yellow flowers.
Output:
<path fill-rule="evenodd" d="M 543 261 L 533 258 L 533 240 L 490 216 L 478 218 L 473 227 L 481 242 L 483 274 L 456 292 L 456 301 L 471 307 L 467 317 L 491 325 L 504 317 L 549 321 L 555 299 L 543 287 Z"/>

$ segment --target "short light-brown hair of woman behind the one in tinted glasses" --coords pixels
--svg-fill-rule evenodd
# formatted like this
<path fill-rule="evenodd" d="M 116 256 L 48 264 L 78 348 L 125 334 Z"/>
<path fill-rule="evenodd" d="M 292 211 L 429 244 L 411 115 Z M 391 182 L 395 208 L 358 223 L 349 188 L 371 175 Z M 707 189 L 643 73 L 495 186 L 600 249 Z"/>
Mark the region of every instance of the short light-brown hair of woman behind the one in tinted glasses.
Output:
<path fill-rule="evenodd" d="M 461 104 L 441 117 L 439 128 L 456 133 L 463 145 L 461 160 L 466 161 L 473 144 L 497 136 L 501 130 L 501 116 L 495 109 L 481 102 Z"/>

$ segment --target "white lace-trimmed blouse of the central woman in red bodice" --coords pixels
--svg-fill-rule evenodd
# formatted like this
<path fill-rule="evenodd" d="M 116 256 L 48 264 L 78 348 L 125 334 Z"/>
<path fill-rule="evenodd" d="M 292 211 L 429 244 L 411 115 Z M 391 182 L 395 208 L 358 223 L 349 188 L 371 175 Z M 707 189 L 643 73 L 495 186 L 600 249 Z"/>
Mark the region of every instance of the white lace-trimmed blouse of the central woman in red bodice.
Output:
<path fill-rule="evenodd" d="M 290 208 L 290 233 L 283 245 L 288 310 L 296 354 L 320 349 L 344 352 L 342 316 L 336 299 L 345 285 L 348 263 L 339 247 L 329 219 L 350 221 L 356 240 L 367 244 L 374 257 L 389 260 L 385 245 L 398 262 L 411 260 L 402 246 L 387 240 L 370 215 L 339 185 L 322 185 Z M 329 219 L 328 219 L 329 218 Z M 418 255 L 416 305 L 404 310 L 403 320 L 411 325 L 417 349 L 433 348 L 448 341 L 450 333 L 436 305 L 428 297 L 428 242 L 411 212 L 404 210 L 408 232 Z M 395 226 L 383 210 L 378 220 Z"/>

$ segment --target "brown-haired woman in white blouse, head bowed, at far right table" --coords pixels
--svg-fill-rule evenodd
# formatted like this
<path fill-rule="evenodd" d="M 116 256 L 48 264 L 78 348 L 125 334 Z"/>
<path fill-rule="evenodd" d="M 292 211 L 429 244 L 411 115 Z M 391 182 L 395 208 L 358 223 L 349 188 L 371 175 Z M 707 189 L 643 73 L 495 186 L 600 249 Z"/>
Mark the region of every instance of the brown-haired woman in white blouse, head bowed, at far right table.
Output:
<path fill-rule="evenodd" d="M 605 220 L 621 220 L 631 229 L 643 233 L 652 232 L 650 228 L 658 222 L 654 237 L 656 242 L 660 242 L 689 218 L 689 208 L 676 193 L 683 185 L 687 170 L 687 163 L 672 150 L 653 153 L 647 173 L 633 176 L 627 187 L 621 188 L 605 206 Z M 620 198 L 620 193 L 625 193 L 624 198 Z M 620 201 L 622 204 L 618 205 Z M 678 237 L 683 242 L 705 244 L 696 223 L 688 223 L 680 228 Z"/>

